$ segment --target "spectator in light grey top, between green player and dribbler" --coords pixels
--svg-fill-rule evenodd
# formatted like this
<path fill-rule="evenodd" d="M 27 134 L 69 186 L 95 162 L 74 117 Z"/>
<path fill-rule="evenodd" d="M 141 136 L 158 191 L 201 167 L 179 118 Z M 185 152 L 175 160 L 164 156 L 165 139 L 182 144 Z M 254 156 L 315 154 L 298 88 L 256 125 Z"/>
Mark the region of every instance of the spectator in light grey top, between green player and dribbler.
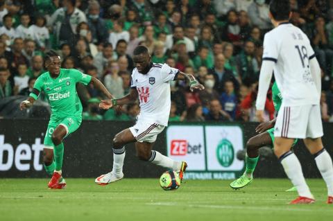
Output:
<path fill-rule="evenodd" d="M 114 98 L 123 97 L 123 80 L 119 76 L 119 66 L 116 61 L 110 61 L 105 72 L 104 85 Z"/>

